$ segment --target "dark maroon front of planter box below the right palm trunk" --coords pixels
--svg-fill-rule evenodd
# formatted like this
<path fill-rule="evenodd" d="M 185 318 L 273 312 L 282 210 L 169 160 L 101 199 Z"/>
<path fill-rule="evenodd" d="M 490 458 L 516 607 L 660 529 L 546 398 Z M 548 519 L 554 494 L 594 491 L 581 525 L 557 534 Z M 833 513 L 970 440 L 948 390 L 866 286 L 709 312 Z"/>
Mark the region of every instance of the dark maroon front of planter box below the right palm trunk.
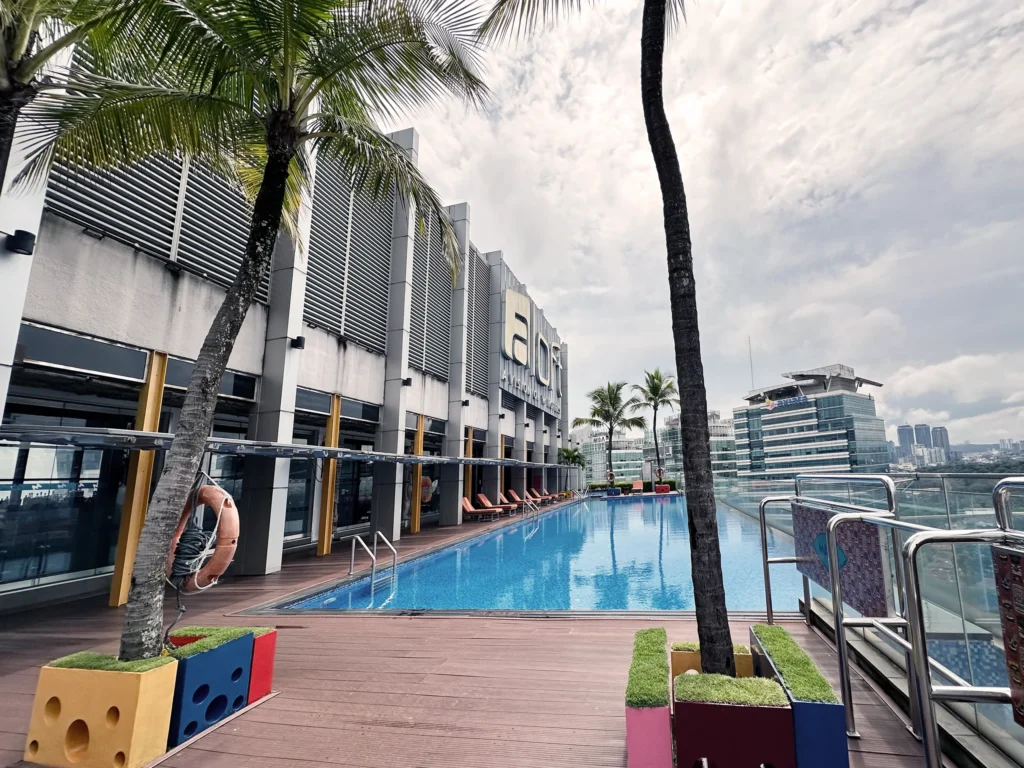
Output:
<path fill-rule="evenodd" d="M 679 768 L 700 765 L 701 758 L 715 768 L 796 768 L 788 707 L 676 701 L 672 720 Z"/>

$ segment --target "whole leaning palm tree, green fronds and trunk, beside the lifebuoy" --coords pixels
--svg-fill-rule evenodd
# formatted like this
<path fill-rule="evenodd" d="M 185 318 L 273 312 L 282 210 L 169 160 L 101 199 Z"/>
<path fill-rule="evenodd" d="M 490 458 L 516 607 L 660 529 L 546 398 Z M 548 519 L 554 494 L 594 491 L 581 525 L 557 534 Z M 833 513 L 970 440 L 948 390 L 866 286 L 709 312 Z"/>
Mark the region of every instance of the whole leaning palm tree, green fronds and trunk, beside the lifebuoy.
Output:
<path fill-rule="evenodd" d="M 174 441 L 135 557 L 120 657 L 162 648 L 164 569 L 176 521 L 196 480 L 220 380 L 243 319 L 293 225 L 307 161 L 341 162 L 375 197 L 394 190 L 420 225 L 439 218 L 458 268 L 455 229 L 415 162 L 375 117 L 455 94 L 486 92 L 477 70 L 480 16 L 471 3 L 437 0 L 147 0 L 120 41 L 123 71 L 142 84 L 76 75 L 67 95 L 32 104 L 30 162 L 119 166 L 179 152 L 234 175 L 251 194 L 239 272 L 203 343 Z M 173 84 L 169 86 L 168 83 Z M 49 135 L 45 131 L 55 131 Z"/>

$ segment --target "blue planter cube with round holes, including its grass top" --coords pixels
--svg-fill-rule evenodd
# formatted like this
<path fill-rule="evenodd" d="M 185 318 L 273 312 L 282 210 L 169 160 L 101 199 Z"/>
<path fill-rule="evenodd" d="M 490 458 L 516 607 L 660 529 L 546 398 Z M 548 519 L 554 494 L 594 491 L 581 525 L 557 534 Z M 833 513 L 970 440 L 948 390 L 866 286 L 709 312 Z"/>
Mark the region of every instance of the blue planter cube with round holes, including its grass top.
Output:
<path fill-rule="evenodd" d="M 185 628 L 171 637 L 178 675 L 167 749 L 234 714 L 248 703 L 253 662 L 252 631 Z"/>

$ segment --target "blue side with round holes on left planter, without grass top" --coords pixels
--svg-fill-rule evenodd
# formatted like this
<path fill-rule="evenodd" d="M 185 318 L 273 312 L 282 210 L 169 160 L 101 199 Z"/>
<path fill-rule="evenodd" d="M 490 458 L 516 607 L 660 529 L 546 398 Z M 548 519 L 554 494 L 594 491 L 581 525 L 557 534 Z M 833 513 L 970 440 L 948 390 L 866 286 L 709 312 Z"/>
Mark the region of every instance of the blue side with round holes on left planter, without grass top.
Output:
<path fill-rule="evenodd" d="M 245 707 L 252 664 L 252 635 L 179 658 L 167 749 L 187 741 Z"/>

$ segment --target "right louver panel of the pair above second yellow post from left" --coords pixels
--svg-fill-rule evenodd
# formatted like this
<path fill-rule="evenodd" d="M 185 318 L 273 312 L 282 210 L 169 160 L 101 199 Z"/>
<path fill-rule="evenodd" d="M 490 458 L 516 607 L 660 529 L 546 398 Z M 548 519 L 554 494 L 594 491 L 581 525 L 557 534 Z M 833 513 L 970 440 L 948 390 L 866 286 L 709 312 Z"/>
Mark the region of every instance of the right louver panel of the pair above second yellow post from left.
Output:
<path fill-rule="evenodd" d="M 383 353 L 387 344 L 387 298 L 391 271 L 391 217 L 394 197 L 374 201 L 356 193 L 352 200 L 348 286 L 342 334 Z"/>

